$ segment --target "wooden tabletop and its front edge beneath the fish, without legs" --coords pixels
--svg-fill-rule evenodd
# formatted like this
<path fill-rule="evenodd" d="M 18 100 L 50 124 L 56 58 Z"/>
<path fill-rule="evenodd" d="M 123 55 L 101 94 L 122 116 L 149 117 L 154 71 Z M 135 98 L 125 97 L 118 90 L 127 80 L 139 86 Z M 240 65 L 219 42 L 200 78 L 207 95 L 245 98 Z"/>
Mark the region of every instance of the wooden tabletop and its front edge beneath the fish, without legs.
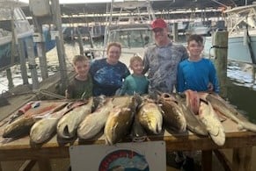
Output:
<path fill-rule="evenodd" d="M 41 101 L 40 107 L 37 109 L 31 109 L 27 112 L 36 113 L 37 110 L 45 106 L 53 105 L 53 103 L 62 104 L 66 103 L 65 100 L 59 101 Z M 6 118 L 8 119 L 8 118 Z M 4 121 L 2 121 L 4 122 Z M 0 122 L 1 125 L 1 122 Z M 43 145 L 33 145 L 31 144 L 29 137 L 23 137 L 20 139 L 4 139 L 2 137 L 4 126 L 0 127 L 0 150 L 7 149 L 25 149 L 25 148 L 38 148 L 38 147 L 58 147 L 58 146 L 69 146 L 69 145 L 79 145 L 79 144 L 105 144 L 104 135 L 98 136 L 91 140 L 79 140 L 78 139 L 58 139 L 54 136 L 47 143 Z M 217 146 L 212 139 L 208 136 L 197 136 L 192 132 L 184 132 L 179 134 L 173 134 L 172 132 L 165 131 L 160 135 L 149 136 L 150 140 L 165 140 L 166 146 L 170 150 L 180 149 L 180 150 L 210 150 L 217 148 L 230 148 L 230 147 L 240 147 L 240 146 L 256 146 L 256 133 L 246 132 L 245 130 L 239 130 L 238 125 L 226 119 L 223 121 L 223 127 L 226 132 L 226 141 L 224 146 Z M 125 139 L 129 141 L 130 139 Z"/>

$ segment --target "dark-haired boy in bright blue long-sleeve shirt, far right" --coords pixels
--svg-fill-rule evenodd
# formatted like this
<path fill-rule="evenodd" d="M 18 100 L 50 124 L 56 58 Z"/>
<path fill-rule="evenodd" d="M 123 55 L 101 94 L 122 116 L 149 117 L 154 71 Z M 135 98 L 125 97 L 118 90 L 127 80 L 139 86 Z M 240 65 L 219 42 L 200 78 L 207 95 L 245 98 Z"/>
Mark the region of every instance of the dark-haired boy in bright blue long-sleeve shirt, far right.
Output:
<path fill-rule="evenodd" d="M 178 92 L 192 89 L 219 93 L 216 68 L 210 60 L 201 57 L 204 47 L 202 43 L 200 35 L 194 34 L 187 39 L 189 58 L 179 63 Z"/>

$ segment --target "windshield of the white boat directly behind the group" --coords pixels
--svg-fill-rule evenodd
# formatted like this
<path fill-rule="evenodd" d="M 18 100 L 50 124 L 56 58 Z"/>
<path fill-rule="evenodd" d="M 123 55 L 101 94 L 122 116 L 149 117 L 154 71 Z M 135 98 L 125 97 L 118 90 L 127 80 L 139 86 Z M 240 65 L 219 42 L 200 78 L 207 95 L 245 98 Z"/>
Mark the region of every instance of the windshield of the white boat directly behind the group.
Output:
<path fill-rule="evenodd" d="M 120 42 L 122 47 L 148 46 L 152 39 L 150 30 L 114 30 L 109 34 L 109 42 Z"/>

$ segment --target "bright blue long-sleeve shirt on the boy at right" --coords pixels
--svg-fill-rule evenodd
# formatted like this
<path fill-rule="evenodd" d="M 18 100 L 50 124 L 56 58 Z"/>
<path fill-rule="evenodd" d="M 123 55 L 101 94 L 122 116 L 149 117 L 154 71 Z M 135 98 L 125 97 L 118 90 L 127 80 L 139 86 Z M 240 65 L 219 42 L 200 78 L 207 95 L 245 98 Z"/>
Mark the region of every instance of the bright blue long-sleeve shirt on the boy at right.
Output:
<path fill-rule="evenodd" d="M 219 93 L 219 83 L 216 76 L 216 68 L 208 59 L 200 61 L 181 61 L 178 67 L 178 92 L 187 89 L 194 91 L 207 91 L 208 83 L 213 84 L 213 91 Z"/>

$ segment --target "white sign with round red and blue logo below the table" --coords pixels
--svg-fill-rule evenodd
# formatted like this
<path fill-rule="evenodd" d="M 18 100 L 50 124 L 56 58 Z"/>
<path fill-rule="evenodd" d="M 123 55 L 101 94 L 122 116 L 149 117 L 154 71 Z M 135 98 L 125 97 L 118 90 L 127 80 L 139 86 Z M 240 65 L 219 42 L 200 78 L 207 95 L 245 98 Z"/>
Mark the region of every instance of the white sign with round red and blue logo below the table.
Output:
<path fill-rule="evenodd" d="M 165 141 L 69 146 L 72 171 L 166 170 Z"/>

